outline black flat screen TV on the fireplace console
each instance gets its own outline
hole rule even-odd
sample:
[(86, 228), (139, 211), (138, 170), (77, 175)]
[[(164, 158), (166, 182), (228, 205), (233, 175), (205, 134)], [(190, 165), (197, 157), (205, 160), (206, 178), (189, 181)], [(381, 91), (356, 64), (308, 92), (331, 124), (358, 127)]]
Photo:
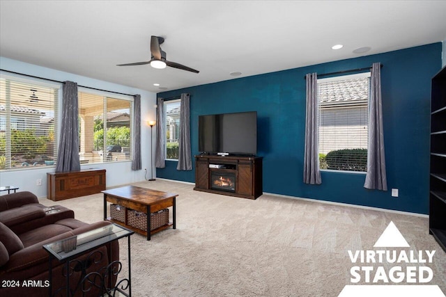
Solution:
[(257, 154), (257, 112), (199, 115), (198, 149), (203, 153)]

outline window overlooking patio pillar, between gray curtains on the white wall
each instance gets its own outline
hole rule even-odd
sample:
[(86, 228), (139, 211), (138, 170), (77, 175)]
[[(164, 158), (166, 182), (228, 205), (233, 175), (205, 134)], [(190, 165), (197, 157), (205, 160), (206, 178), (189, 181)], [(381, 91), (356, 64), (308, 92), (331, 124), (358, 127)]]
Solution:
[(79, 91), (81, 163), (132, 160), (132, 104), (130, 96)]

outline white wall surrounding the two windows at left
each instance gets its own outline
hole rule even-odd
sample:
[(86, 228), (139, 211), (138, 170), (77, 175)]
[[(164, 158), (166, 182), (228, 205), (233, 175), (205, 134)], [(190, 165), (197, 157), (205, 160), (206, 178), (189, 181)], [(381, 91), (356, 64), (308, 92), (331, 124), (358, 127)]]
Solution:
[[(40, 67), (20, 61), (3, 58), (0, 56), (0, 68), (2, 70), (9, 70), (22, 74), (29, 74), (35, 77), (42, 77), (45, 79), (53, 79), (56, 81), (75, 81), (78, 85), (88, 86), (91, 88), (98, 88), (102, 90), (109, 90), (112, 92), (125, 93), (130, 95), (141, 95), (141, 161), (142, 170), (133, 171), (131, 169), (132, 163), (130, 161), (100, 163), (100, 164), (86, 164), (81, 166), (82, 169), (101, 168), (107, 170), (107, 188), (112, 186), (119, 186), (121, 184), (129, 184), (132, 182), (144, 181), (144, 168), (150, 170), (151, 167), (151, 127), (146, 125), (148, 120), (155, 120), (155, 102), (156, 94), (146, 90), (131, 88), (128, 86), (121, 86), (116, 83), (109, 83), (107, 81), (100, 81), (91, 79), (89, 77), (82, 77), (77, 74), (62, 72), (46, 67)], [(7, 74), (5, 72), (5, 74)], [(59, 99), (60, 102), (62, 98)], [(59, 104), (62, 106), (62, 104)], [(61, 113), (59, 113), (61, 114)], [(60, 126), (60, 125), (59, 125)], [(60, 127), (59, 127), (60, 129)], [(153, 141), (155, 143), (155, 133), (153, 133)], [(155, 152), (153, 152), (155, 153)], [(153, 158), (155, 159), (155, 158)], [(24, 170), (9, 170), (0, 172), (0, 186), (19, 186), (19, 191), (31, 191), (39, 198), (47, 196), (47, 172), (54, 172), (52, 168), (36, 168)], [(155, 176), (155, 171), (153, 172)], [(150, 171), (148, 171), (148, 177)], [(36, 179), (42, 179), (42, 186), (36, 186)], [(0, 192), (4, 195), (7, 192)]]

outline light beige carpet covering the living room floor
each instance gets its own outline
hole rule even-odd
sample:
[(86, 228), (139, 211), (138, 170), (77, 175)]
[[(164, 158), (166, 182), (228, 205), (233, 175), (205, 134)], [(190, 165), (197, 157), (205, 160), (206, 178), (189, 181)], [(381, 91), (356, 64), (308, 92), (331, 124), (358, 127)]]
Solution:
[[(338, 296), (357, 265), (347, 251), (374, 250), (390, 221), (408, 241), (407, 250), (436, 250), (433, 263), (420, 265), (433, 271), (429, 284), (446, 292), (446, 254), (429, 235), (428, 218), (272, 195), (232, 198), (165, 180), (133, 185), (178, 198), (176, 230), (151, 241), (131, 237), (132, 296)], [(102, 220), (102, 199), (41, 202), (62, 204), (93, 223)], [(120, 246), (126, 275), (127, 240)]]

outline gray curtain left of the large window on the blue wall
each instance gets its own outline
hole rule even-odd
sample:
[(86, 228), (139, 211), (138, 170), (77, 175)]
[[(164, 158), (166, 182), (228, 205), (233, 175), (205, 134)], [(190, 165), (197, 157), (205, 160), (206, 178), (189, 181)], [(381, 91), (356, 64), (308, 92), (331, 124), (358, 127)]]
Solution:
[(318, 76), (307, 74), (307, 113), (305, 115), (305, 152), (304, 152), (304, 182), (305, 184), (321, 184), (319, 170), (318, 141)]

